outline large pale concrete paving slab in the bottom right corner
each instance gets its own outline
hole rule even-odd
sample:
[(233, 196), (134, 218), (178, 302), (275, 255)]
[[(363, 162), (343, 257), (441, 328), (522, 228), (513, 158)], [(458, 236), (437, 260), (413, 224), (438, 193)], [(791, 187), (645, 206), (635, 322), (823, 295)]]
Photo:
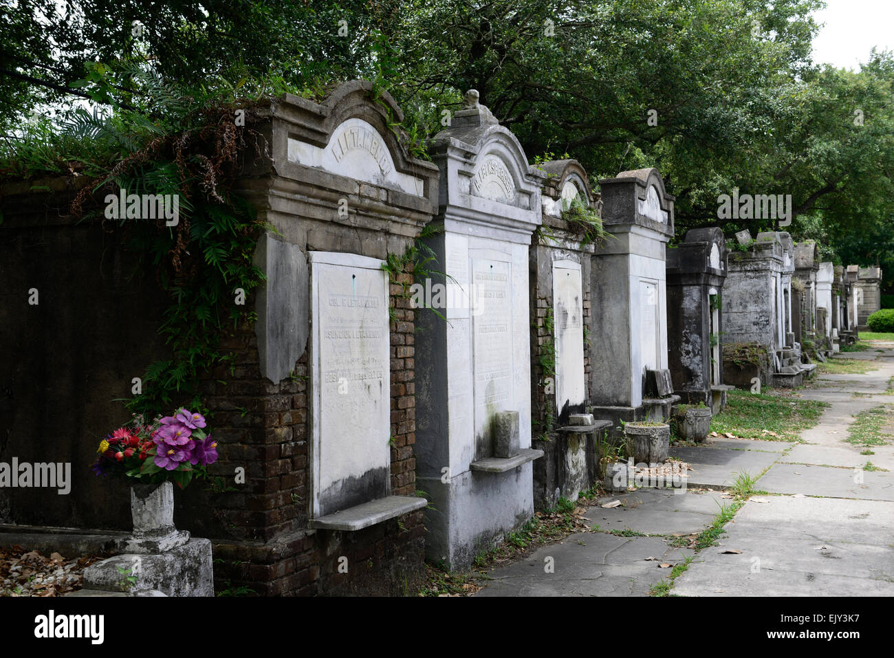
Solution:
[[(681, 596), (894, 595), (894, 503), (756, 496), (676, 579)], [(741, 553), (722, 553), (727, 550)]]

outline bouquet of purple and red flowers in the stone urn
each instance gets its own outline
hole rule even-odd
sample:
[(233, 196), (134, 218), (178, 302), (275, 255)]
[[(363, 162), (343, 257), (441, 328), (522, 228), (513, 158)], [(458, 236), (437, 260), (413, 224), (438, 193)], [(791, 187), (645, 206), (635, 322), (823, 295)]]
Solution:
[(93, 472), (97, 476), (133, 477), (140, 484), (172, 480), (182, 489), (193, 477), (207, 476), (217, 460), (217, 442), (208, 434), (205, 417), (187, 409), (146, 423), (135, 415), (99, 443)]

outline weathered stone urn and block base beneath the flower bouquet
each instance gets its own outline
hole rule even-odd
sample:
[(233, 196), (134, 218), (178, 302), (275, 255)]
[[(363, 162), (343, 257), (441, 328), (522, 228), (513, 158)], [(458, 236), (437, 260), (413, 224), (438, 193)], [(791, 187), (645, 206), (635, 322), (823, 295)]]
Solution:
[(173, 485), (131, 487), (133, 535), (123, 553), (84, 569), (84, 589), (131, 595), (214, 596), (211, 542), (173, 525)]

